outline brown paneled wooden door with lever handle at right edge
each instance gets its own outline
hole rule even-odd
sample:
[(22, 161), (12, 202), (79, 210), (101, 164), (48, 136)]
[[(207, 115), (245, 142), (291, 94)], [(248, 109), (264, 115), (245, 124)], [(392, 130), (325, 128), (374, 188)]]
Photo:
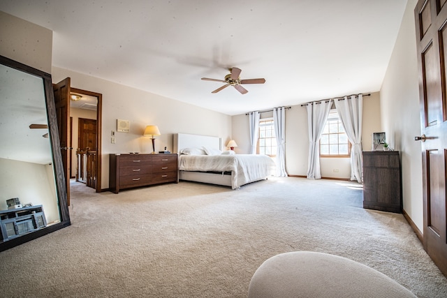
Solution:
[(423, 244), (447, 275), (447, 5), (420, 0), (415, 8), (423, 157)]

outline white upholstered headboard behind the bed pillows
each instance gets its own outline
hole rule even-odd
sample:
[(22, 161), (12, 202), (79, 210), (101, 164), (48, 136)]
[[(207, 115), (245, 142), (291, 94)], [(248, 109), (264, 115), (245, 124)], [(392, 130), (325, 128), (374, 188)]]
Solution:
[(221, 137), (210, 137), (208, 135), (189, 135), (187, 133), (174, 133), (174, 151), (179, 154), (179, 151), (184, 148), (200, 148), (207, 147), (211, 149), (222, 150)]

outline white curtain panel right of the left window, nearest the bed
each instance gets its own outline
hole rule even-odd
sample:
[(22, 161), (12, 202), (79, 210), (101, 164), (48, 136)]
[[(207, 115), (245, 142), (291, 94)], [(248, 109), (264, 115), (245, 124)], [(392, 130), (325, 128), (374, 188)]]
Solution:
[(286, 108), (273, 108), (274, 134), (277, 137), (277, 174), (287, 177), (286, 172)]

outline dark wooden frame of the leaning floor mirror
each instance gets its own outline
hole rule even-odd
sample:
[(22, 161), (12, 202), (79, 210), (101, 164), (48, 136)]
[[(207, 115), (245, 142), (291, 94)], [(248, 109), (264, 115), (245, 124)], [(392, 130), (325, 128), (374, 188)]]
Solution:
[(0, 243), (0, 251), (6, 251), (14, 246), (24, 244), (27, 241), (31, 241), (38, 237), (42, 237), (45, 234), (49, 234), (61, 228), (65, 228), (71, 225), (70, 214), (68, 212), (67, 203), (67, 189), (65, 184), (65, 174), (64, 165), (62, 162), (61, 149), (59, 141), (59, 128), (57, 126), (56, 117), (56, 105), (54, 104), (54, 93), (52, 87), (52, 79), (49, 73), (45, 73), (42, 70), (32, 68), (20, 62), (14, 61), (12, 59), (3, 57), (0, 55), (0, 64), (20, 70), (24, 73), (29, 73), (36, 77), (40, 77), (43, 81), (43, 89), (45, 93), (45, 107), (47, 109), (47, 119), (48, 119), (48, 133), (50, 134), (50, 146), (52, 150), (52, 161), (53, 161), (53, 171), (54, 171), (54, 185), (56, 186), (57, 195), (57, 205), (59, 207), (60, 223), (55, 223), (54, 225), (47, 226), (40, 230), (30, 232), (28, 234), (23, 234), (20, 237), (10, 239), (8, 241), (3, 241)]

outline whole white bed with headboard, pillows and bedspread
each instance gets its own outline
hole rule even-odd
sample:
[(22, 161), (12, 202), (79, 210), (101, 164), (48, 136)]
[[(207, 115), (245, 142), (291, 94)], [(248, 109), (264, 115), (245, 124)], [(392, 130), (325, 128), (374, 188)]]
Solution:
[(244, 184), (267, 179), (276, 165), (270, 156), (222, 151), (220, 137), (174, 134), (179, 154), (179, 179), (239, 189)]

